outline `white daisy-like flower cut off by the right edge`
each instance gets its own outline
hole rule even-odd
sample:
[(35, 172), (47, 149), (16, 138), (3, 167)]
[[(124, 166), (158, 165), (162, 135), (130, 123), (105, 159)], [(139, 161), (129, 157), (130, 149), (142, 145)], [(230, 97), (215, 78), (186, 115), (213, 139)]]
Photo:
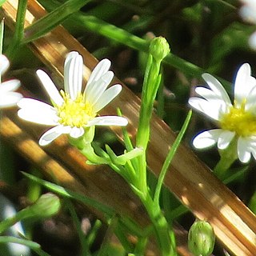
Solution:
[(210, 89), (197, 87), (202, 98), (190, 98), (190, 106), (212, 118), (219, 128), (198, 134), (194, 147), (204, 149), (217, 143), (224, 150), (236, 139), (239, 160), (249, 162), (251, 154), (256, 159), (256, 79), (250, 75), (250, 65), (245, 63), (238, 70), (233, 104), (216, 78), (210, 74), (202, 74), (202, 78)]

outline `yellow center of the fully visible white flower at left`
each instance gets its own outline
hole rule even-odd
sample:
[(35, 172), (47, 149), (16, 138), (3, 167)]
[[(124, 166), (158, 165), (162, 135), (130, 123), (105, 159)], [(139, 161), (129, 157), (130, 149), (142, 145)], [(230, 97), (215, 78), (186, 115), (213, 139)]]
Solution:
[(88, 121), (96, 116), (93, 107), (88, 102), (84, 102), (82, 94), (78, 94), (75, 100), (63, 90), (60, 92), (64, 102), (62, 106), (55, 106), (58, 110), (58, 120), (64, 126), (82, 127), (86, 126)]

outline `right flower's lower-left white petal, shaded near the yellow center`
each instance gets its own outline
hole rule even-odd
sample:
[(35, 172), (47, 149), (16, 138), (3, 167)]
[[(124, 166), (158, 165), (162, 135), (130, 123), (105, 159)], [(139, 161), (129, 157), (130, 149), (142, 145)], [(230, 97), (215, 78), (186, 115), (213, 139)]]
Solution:
[(218, 141), (218, 137), (222, 134), (222, 129), (206, 130), (198, 134), (193, 140), (193, 146), (197, 149), (205, 149)]

